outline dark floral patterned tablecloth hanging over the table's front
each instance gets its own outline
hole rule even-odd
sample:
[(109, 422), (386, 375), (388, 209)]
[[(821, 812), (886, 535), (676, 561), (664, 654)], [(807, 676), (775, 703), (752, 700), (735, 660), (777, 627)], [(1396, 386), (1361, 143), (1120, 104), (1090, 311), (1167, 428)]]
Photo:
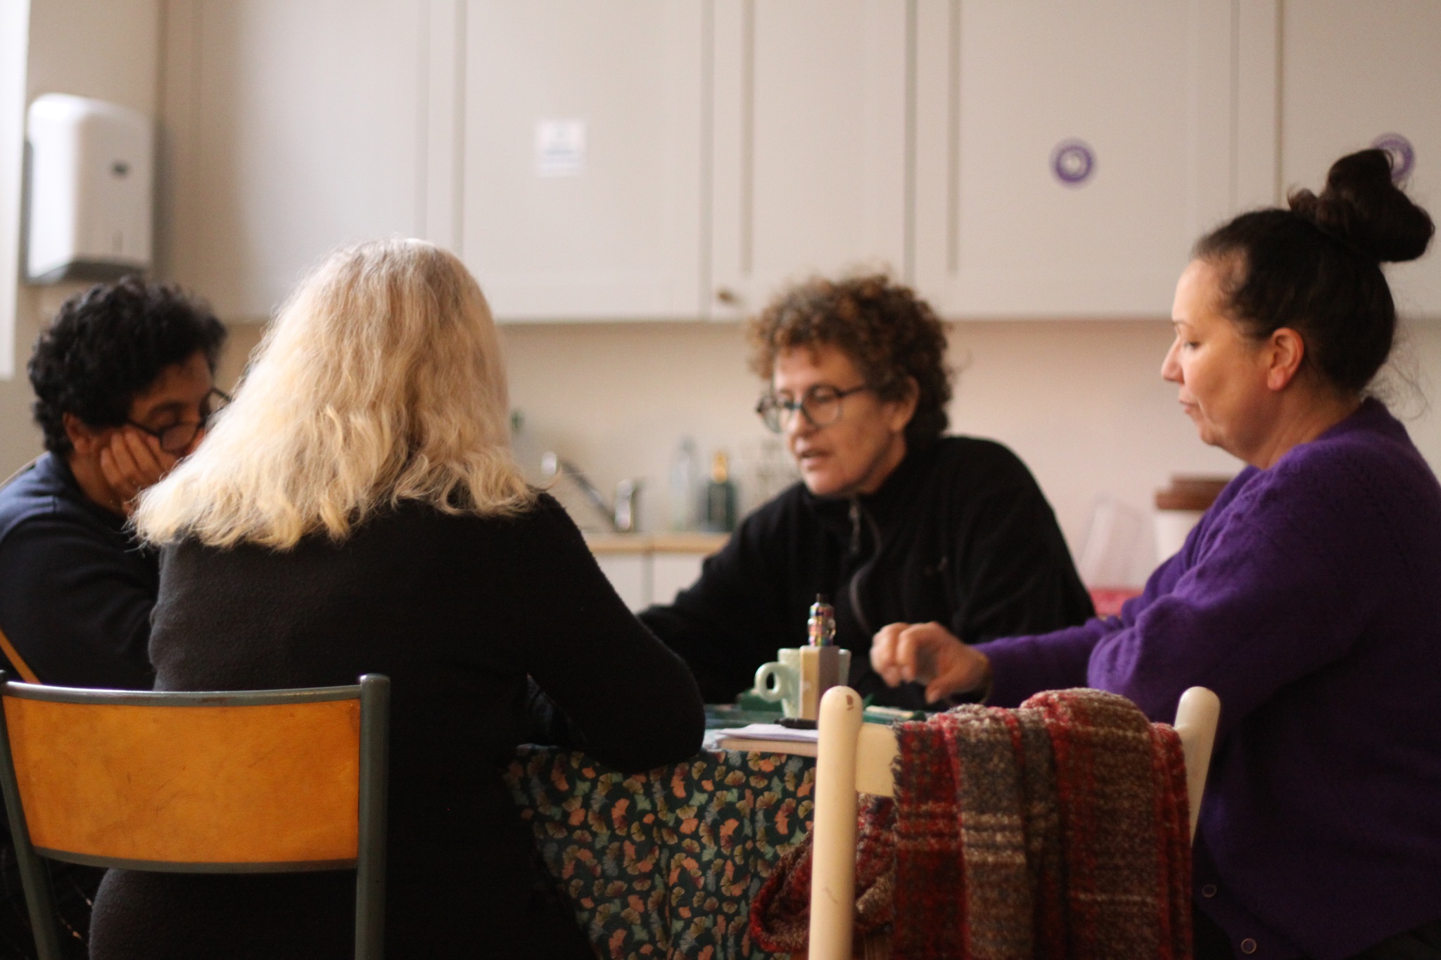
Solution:
[(540, 858), (602, 957), (771, 957), (751, 898), (804, 838), (816, 761), (700, 753), (638, 776), (584, 753), (522, 747), (506, 783)]

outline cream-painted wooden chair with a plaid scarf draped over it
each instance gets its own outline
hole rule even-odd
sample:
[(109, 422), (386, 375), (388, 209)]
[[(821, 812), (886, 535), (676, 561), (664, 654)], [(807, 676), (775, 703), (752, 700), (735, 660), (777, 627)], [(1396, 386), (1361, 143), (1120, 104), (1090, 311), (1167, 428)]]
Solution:
[[(1221, 701), (1205, 687), (1182, 694), (1176, 733), (1186, 754), (1190, 835), (1206, 789)], [(860, 694), (831, 687), (820, 704), (816, 812), (811, 828), (810, 960), (850, 960), (856, 907), (856, 793), (893, 796), (891, 764), (899, 753), (889, 727), (862, 723)]]

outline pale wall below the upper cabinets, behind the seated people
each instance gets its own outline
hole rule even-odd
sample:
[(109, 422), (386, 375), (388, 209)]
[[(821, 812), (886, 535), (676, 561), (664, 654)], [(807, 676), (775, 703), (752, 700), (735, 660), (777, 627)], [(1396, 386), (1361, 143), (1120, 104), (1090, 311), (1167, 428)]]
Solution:
[[(529, 433), (520, 449), (530, 458), (555, 449), (602, 489), (640, 476), (647, 530), (664, 524), (680, 436), (695, 436), (702, 453), (744, 452), (767, 436), (751, 412), (761, 384), (745, 368), (738, 324), (535, 325), (503, 335), (512, 406), (525, 413)], [(1026, 461), (1072, 553), (1098, 498), (1148, 515), (1172, 474), (1239, 469), (1196, 439), (1174, 387), (1160, 379), (1170, 344), (1163, 321), (965, 322), (953, 325), (950, 338), (951, 361), (961, 367), (953, 430), (996, 438)], [(1427, 403), (1437, 396), (1441, 324), (1409, 327), (1398, 360), (1417, 387), (1393, 376), (1383, 386), (1432, 468), (1441, 468), (1441, 417)], [(1148, 571), (1146, 560), (1134, 580)]]

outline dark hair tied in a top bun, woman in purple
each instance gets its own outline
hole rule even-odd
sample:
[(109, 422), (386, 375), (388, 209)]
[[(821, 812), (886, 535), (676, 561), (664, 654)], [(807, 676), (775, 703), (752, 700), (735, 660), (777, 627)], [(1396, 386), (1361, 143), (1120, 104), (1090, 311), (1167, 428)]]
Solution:
[(1242, 213), (1203, 236), (1197, 259), (1222, 268), (1225, 312), (1254, 340), (1301, 334), (1301, 360), (1331, 387), (1366, 389), (1391, 354), (1396, 307), (1380, 265), (1414, 261), (1435, 232), (1392, 181), (1382, 150), (1331, 164), (1320, 196)]

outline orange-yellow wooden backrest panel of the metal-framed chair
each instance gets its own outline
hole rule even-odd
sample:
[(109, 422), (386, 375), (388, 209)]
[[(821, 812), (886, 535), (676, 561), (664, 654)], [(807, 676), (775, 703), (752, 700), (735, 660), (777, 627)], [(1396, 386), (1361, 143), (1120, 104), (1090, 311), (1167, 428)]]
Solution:
[(147, 707), (4, 698), (30, 843), (140, 869), (353, 866), (360, 701)]

